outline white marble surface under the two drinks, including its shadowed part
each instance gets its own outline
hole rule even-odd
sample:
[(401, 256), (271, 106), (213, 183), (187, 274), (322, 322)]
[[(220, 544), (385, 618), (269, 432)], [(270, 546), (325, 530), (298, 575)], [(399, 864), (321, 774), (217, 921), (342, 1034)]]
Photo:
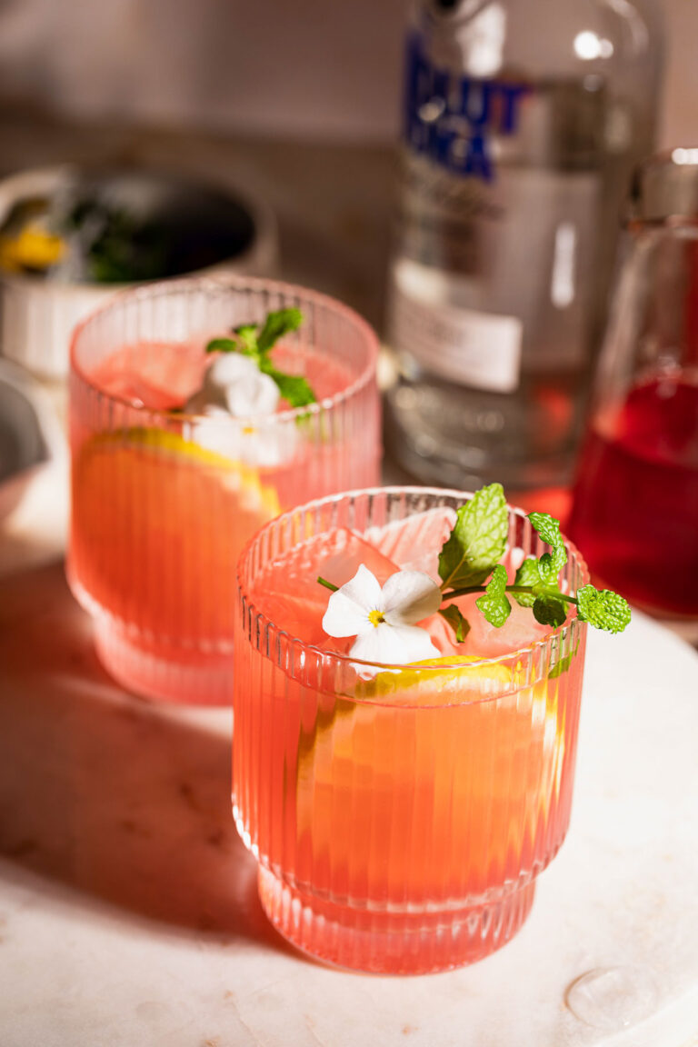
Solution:
[[(690, 1047), (698, 1043), (698, 656), (636, 616), (588, 653), (572, 826), (501, 952), (343, 974), (268, 926), (229, 809), (230, 717), (106, 676), (60, 557), (64, 478), (0, 531), (2, 1047)], [(9, 551), (12, 550), (12, 556)], [(651, 1016), (565, 1004), (635, 968)]]

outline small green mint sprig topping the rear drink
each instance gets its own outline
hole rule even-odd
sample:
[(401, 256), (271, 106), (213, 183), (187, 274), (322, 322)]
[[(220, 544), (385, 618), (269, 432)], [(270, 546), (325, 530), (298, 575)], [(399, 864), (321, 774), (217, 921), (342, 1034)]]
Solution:
[(241, 324), (233, 328), (231, 338), (212, 338), (207, 353), (242, 353), (254, 360), (260, 371), (269, 375), (283, 400), (291, 407), (307, 407), (317, 403), (312, 386), (302, 375), (287, 375), (274, 366), (269, 357), (279, 338), (297, 331), (302, 324), (299, 309), (278, 309), (268, 313), (264, 324)]

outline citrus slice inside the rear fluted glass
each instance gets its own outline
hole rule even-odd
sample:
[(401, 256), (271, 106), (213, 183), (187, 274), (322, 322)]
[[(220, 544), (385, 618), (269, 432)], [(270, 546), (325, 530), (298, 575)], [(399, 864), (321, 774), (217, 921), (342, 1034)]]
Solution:
[(73, 454), (71, 571), (141, 629), (229, 641), (238, 557), (278, 512), (255, 468), (177, 432), (97, 433)]

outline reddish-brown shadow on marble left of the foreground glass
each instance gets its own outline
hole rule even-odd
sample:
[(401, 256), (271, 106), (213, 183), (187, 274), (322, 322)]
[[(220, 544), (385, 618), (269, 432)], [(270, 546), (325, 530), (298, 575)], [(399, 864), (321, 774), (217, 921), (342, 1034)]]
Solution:
[(85, 901), (290, 950), (232, 822), (230, 728), (126, 694), (62, 562), (0, 580), (0, 854)]

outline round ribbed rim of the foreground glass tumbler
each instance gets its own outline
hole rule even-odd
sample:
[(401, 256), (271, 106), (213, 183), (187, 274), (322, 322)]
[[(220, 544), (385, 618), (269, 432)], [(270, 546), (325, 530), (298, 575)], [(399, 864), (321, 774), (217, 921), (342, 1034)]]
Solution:
[[(416, 494), (422, 496), (432, 495), (437, 497), (447, 496), (447, 497), (459, 498), (460, 502), (464, 503), (469, 498), (471, 498), (474, 492), (459, 491), (456, 488), (421, 487), (420, 485), (392, 484), (386, 487), (364, 487), (364, 488), (356, 488), (351, 491), (341, 491), (338, 494), (325, 495), (322, 498), (316, 498), (313, 499), (312, 502), (307, 502), (303, 505), (295, 506), (292, 509), (288, 509), (285, 512), (279, 513), (278, 516), (275, 516), (274, 519), (268, 520), (262, 528), (260, 528), (258, 531), (256, 531), (252, 535), (252, 537), (246, 542), (245, 547), (243, 548), (235, 567), (235, 582), (237, 582), (239, 597), (242, 596), (242, 598), (247, 603), (247, 606), (250, 609), (253, 609), (254, 615), (257, 618), (263, 619), (263, 621), (266, 624), (270, 625), (275, 630), (277, 636), (286, 637), (286, 639), (289, 642), (298, 645), (300, 648), (302, 648), (302, 650), (313, 651), (315, 654), (319, 654), (323, 659), (328, 660), (331, 659), (337, 664), (343, 664), (347, 666), (350, 665), (366, 666), (366, 668), (377, 669), (378, 672), (386, 671), (395, 673), (396, 671), (404, 671), (405, 669), (410, 669), (410, 670), (418, 670), (420, 673), (427, 674), (434, 672), (444, 672), (451, 669), (457, 669), (467, 674), (470, 668), (475, 669), (483, 665), (501, 665), (504, 662), (515, 661), (515, 660), (520, 661), (523, 658), (527, 658), (531, 661), (533, 661), (536, 654), (544, 650), (546, 647), (549, 647), (554, 640), (558, 641), (559, 645), (561, 645), (562, 642), (567, 638), (567, 636), (568, 634), (571, 636), (571, 633), (576, 630), (580, 631), (580, 639), (585, 634), (586, 622), (580, 621), (577, 618), (577, 616), (575, 616), (573, 618), (568, 618), (562, 625), (558, 625), (555, 629), (546, 633), (544, 637), (541, 637), (539, 640), (534, 640), (528, 644), (524, 644), (521, 647), (517, 647), (514, 650), (506, 651), (505, 653), (491, 655), (489, 658), (477, 658), (477, 661), (474, 661), (472, 663), (467, 663), (467, 662), (447, 663), (443, 661), (438, 663), (436, 663), (436, 661), (430, 663), (428, 660), (424, 660), (423, 662), (411, 662), (411, 663), (400, 663), (400, 664), (390, 662), (366, 662), (363, 661), (362, 659), (353, 656), (352, 654), (342, 654), (339, 651), (328, 650), (324, 647), (319, 647), (317, 644), (310, 644), (299, 639), (298, 637), (294, 637), (292, 633), (287, 632), (285, 629), (279, 628), (275, 622), (269, 619), (264, 614), (264, 611), (257, 609), (255, 605), (252, 603), (252, 601), (249, 600), (245, 592), (245, 588), (243, 586), (241, 577), (243, 564), (247, 561), (254, 543), (261, 538), (263, 534), (268, 532), (271, 528), (278, 526), (283, 520), (292, 517), (294, 514), (303, 513), (311, 508), (317, 509), (322, 506), (328, 506), (332, 505), (333, 503), (340, 502), (344, 498), (355, 497), (357, 495), (373, 496), (381, 494), (385, 495)], [(510, 514), (510, 517), (514, 515), (522, 520), (527, 518), (527, 514), (524, 512), (523, 509), (520, 509), (519, 507), (514, 506), (509, 502), (506, 503), (506, 509)], [(580, 553), (579, 549), (577, 548), (577, 545), (566, 535), (563, 534), (562, 537), (564, 538), (565, 548), (567, 549), (567, 552), (570, 556), (570, 560), (572, 560), (579, 566), (582, 573), (583, 583), (585, 584), (589, 580), (589, 569), (587, 566), (587, 563), (582, 554)], [(489, 700), (492, 697), (493, 697), (492, 695), (483, 695), (482, 699), (477, 699), (477, 700)], [(437, 707), (434, 706), (433, 708)]]

